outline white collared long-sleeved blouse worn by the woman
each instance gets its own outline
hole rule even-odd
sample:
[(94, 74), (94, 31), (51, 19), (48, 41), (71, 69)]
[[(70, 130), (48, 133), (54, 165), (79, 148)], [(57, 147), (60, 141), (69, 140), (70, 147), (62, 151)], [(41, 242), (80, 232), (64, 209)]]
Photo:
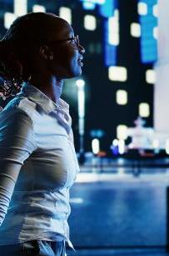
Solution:
[(30, 83), (0, 113), (0, 245), (69, 239), (79, 166), (69, 106)]

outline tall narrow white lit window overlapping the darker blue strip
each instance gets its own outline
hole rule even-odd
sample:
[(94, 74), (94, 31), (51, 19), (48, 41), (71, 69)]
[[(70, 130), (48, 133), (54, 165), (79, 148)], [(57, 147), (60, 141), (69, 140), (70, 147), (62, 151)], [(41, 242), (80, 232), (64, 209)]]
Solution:
[(119, 44), (119, 11), (114, 11), (114, 16), (108, 18), (108, 43), (117, 46)]

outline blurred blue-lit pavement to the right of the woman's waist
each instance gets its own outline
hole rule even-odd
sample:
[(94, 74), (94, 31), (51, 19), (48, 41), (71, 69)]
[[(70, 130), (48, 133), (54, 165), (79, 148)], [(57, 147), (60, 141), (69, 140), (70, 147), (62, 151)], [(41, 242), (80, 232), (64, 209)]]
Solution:
[(167, 186), (169, 173), (146, 170), (138, 177), (79, 173), (70, 190), (72, 255), (169, 255)]

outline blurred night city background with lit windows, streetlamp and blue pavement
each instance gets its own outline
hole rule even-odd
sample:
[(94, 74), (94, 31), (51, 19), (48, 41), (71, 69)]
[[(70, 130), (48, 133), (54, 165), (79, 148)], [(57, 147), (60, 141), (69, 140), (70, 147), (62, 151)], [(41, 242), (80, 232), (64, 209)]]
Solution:
[(0, 37), (30, 12), (65, 18), (86, 48), (62, 93), (81, 168), (68, 255), (167, 255), (169, 3), (0, 0)]

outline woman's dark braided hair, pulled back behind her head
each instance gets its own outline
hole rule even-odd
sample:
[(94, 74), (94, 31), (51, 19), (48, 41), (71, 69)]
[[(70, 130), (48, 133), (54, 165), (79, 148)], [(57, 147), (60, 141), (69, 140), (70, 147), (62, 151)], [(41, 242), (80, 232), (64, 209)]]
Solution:
[[(17, 18), (0, 41), (0, 98), (15, 96), (32, 73), (32, 63), (42, 43), (47, 43), (52, 13), (27, 13)], [(49, 27), (50, 25), (50, 27)]]

